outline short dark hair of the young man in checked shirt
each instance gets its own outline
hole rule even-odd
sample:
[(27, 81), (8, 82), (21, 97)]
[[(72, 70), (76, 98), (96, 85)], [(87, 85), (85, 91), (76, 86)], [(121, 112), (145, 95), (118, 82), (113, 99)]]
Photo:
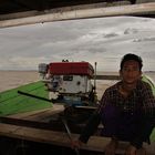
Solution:
[(125, 54), (125, 55), (122, 58), (122, 61), (121, 61), (121, 71), (122, 71), (122, 69), (123, 69), (124, 63), (125, 63), (126, 61), (130, 61), (130, 60), (134, 60), (134, 61), (138, 62), (140, 71), (142, 70), (142, 66), (143, 66), (142, 58), (138, 56), (138, 55), (128, 53), (128, 54)]

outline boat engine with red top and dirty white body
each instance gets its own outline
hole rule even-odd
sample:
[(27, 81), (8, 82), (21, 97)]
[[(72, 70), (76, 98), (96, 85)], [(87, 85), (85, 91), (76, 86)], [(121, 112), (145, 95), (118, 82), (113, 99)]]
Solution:
[(39, 73), (55, 102), (79, 105), (95, 102), (94, 69), (89, 62), (41, 63)]

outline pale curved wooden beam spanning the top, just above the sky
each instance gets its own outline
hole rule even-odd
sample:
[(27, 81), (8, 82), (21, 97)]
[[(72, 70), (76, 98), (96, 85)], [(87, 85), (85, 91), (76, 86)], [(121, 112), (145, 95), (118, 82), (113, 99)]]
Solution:
[(107, 7), (107, 8), (91, 8), (91, 9), (83, 9), (83, 10), (73, 10), (73, 8), (70, 7), (70, 10), (68, 11), (64, 8), (54, 9), (41, 16), (12, 19), (12, 20), (2, 20), (0, 21), (0, 28), (53, 22), (53, 21), (61, 21), (61, 20), (84, 19), (84, 18), (103, 18), (103, 17), (114, 17), (114, 16), (142, 16), (142, 14), (143, 16), (155, 14), (155, 2), (132, 4), (132, 6)]

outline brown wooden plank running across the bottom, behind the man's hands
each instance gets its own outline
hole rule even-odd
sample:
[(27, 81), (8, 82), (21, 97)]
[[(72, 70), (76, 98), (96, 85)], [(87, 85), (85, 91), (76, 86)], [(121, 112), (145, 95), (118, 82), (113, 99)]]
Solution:
[[(18, 125), (9, 125), (3, 123), (0, 123), (0, 135), (65, 147), (70, 147), (71, 144), (66, 133), (31, 127), (21, 127)], [(78, 140), (79, 135), (72, 134), (72, 137), (73, 140)], [(91, 136), (89, 143), (81, 146), (81, 149), (103, 153), (108, 142), (110, 138)], [(124, 154), (127, 145), (127, 143), (121, 142), (116, 153)], [(155, 143), (152, 144), (152, 147), (147, 146), (147, 155), (155, 155)]]

